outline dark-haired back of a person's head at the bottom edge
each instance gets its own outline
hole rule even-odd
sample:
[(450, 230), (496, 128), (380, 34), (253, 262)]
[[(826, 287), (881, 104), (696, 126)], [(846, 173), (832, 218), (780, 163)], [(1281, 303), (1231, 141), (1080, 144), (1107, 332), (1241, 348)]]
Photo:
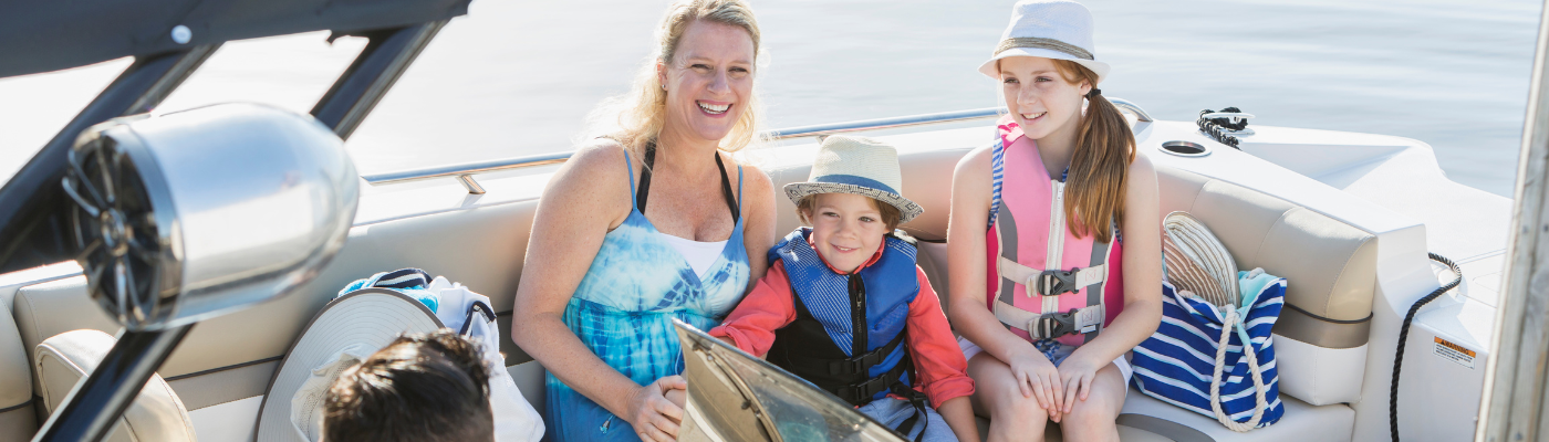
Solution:
[(479, 345), (407, 334), (345, 369), (324, 402), (324, 440), (494, 440)]

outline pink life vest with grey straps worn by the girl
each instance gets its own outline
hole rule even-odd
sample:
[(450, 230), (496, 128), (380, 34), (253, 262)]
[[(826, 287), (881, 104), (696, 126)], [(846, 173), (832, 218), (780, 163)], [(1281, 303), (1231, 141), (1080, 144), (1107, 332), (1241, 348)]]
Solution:
[[(1001, 117), (998, 127), (985, 304), (1022, 338), (1081, 345), (1123, 309), (1121, 241), (1070, 233), (1064, 182), (1049, 176), (1038, 145), (1022, 136), (1011, 116)], [(1063, 325), (1053, 320), (1058, 317)]]

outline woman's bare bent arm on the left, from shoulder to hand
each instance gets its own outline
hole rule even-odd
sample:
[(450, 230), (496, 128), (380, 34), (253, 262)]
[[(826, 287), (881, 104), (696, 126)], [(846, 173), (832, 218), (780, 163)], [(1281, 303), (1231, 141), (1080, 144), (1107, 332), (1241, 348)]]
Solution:
[[(624, 151), (607, 139), (581, 147), (548, 181), (516, 291), (511, 340), (565, 385), (644, 431), (638, 427), (646, 420), (637, 420), (634, 416), (641, 414), (637, 411), (658, 410), (646, 413), (658, 417), (682, 414), (674, 416), (675, 406), (665, 399), (654, 400), (661, 397), (651, 394), (655, 385), (641, 386), (598, 359), (561, 320), (603, 247), (603, 236), (629, 216), (634, 206), (627, 189)], [(671, 422), (655, 427), (677, 431)]]

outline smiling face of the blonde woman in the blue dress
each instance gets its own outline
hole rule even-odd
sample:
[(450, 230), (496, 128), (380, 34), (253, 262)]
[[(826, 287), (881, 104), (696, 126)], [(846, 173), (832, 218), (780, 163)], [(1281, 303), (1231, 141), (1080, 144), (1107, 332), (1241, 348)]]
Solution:
[(719, 142), (753, 96), (753, 37), (731, 25), (689, 23), (677, 54), (657, 73), (668, 90), (665, 130)]

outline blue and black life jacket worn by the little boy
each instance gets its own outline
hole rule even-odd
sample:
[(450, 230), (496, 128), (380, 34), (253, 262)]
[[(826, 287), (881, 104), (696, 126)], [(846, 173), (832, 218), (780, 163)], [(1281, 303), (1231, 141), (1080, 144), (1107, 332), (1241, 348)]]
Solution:
[(774, 332), (768, 362), (850, 405), (888, 393), (915, 399), (905, 345), (909, 303), (920, 294), (914, 241), (888, 235), (877, 263), (840, 275), (807, 243), (810, 235), (796, 229), (770, 249), (770, 263), (784, 263), (790, 278), (796, 320)]

